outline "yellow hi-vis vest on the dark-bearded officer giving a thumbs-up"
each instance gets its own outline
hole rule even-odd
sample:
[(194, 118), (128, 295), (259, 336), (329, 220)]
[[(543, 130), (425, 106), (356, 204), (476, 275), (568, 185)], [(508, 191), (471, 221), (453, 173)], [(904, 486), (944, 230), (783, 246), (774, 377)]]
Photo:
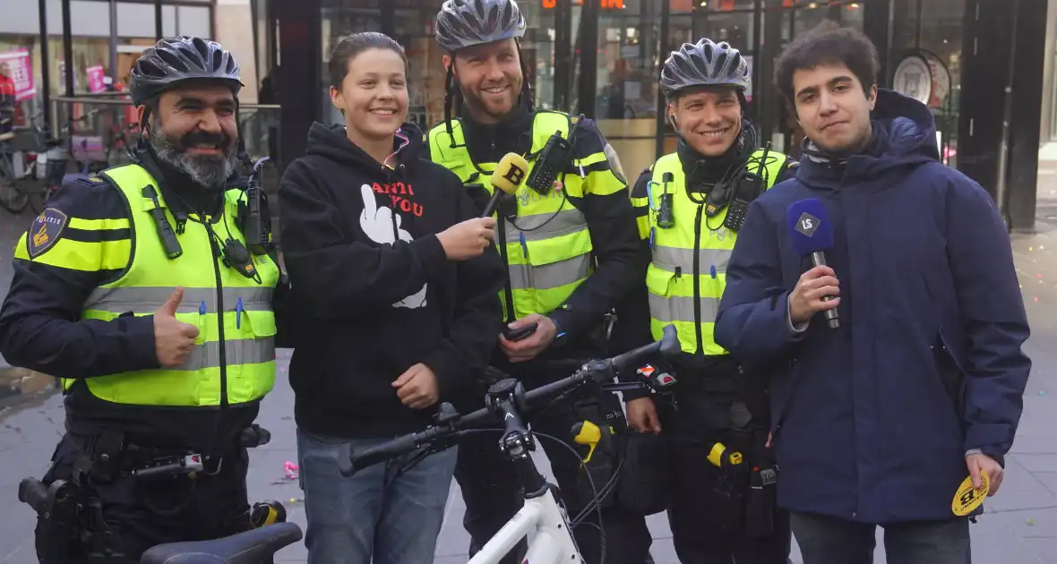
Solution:
[[(81, 317), (109, 321), (128, 312), (150, 315), (179, 285), (185, 292), (175, 317), (197, 326), (199, 336), (180, 368), (85, 378), (88, 391), (106, 401), (136, 406), (209, 407), (225, 400), (234, 406), (263, 397), (275, 384), (272, 294), (278, 266), (267, 257), (254, 257), (260, 282), (240, 275), (214, 257), (206, 227), (193, 220), (178, 236), (183, 255), (169, 260), (151, 215), (155, 205), (143, 194), (145, 186), (157, 186), (154, 178), (138, 165), (101, 174), (119, 188), (131, 212), (132, 255), (119, 279), (92, 290)], [(161, 190), (155, 193), (165, 208)], [(228, 190), (223, 217), (206, 218), (215, 221), (210, 225), (221, 245), (228, 238), (245, 243), (236, 225), (241, 194)], [(63, 379), (62, 389), (75, 381)]]

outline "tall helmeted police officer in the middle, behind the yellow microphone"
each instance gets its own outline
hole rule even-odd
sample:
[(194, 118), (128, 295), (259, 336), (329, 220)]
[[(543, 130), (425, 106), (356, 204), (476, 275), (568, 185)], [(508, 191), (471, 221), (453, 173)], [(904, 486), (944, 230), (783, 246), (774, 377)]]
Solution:
[[(499, 296), (508, 328), (493, 364), (532, 389), (605, 354), (607, 313), (641, 280), (645, 265), (616, 154), (591, 119), (535, 108), (519, 46), (524, 32), (513, 0), (444, 2), (437, 40), (446, 51), (445, 120), (426, 137), (430, 158), (458, 174), (482, 210), (494, 190), (489, 175), (502, 157), (517, 153), (527, 162), (523, 177), (509, 176), (517, 191), (500, 200), (496, 213), (497, 246), (509, 274)], [(573, 445), (578, 420), (622, 432), (617, 396), (552, 406), (533, 425)], [(498, 438), (468, 435), (459, 447), (456, 477), (471, 553), (524, 502)], [(585, 465), (560, 445), (540, 444), (573, 518), (593, 501), (586, 472), (601, 488), (615, 469), (617, 449), (595, 452)], [(605, 496), (601, 505), (606, 561), (647, 562), (645, 519), (622, 510), (615, 497)], [(601, 564), (599, 530), (590, 524), (597, 525), (596, 515), (592, 511), (574, 531), (588, 564)], [(524, 543), (504, 562), (521, 562), (523, 551)]]

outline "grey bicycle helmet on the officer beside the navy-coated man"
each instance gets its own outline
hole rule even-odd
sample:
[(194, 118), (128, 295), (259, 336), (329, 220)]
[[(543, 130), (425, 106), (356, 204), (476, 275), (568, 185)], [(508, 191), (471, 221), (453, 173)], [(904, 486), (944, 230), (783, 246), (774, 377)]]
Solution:
[(741, 53), (726, 41), (709, 39), (683, 43), (661, 70), (661, 90), (669, 97), (689, 87), (730, 86), (745, 92), (748, 80), (748, 62)]

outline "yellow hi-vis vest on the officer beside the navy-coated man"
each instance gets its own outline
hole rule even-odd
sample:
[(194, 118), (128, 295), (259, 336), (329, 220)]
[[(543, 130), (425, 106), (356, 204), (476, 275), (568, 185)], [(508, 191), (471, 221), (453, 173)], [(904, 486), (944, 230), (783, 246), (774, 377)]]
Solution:
[[(764, 150), (755, 151), (748, 158), (747, 170), (763, 176), (765, 189), (771, 189), (785, 165), (785, 155)], [(660, 206), (664, 174), (671, 173), (668, 193), (672, 194), (674, 225), (662, 228), (657, 214), (642, 218), (639, 234), (651, 238), (652, 260), (646, 271), (649, 289), (650, 332), (661, 340), (664, 327), (674, 324), (679, 331), (682, 350), (687, 354), (723, 355), (716, 344), (712, 330), (719, 313), (720, 298), (726, 288), (727, 262), (734, 250), (737, 234), (723, 227), (727, 208), (709, 218), (704, 205), (690, 200), (686, 191), (686, 175), (678, 153), (662, 156), (653, 165), (650, 202), (652, 209)], [(700, 222), (700, 229), (697, 228)], [(644, 231), (645, 229), (645, 231)], [(697, 234), (700, 233), (700, 237)], [(697, 262), (694, 262), (697, 258)]]

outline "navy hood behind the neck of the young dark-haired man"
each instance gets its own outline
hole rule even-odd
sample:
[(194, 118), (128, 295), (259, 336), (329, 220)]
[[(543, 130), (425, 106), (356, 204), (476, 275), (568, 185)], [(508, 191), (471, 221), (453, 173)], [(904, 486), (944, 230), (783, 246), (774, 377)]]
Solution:
[(828, 155), (804, 138), (797, 178), (806, 185), (840, 188), (891, 174), (905, 174), (917, 165), (940, 159), (935, 119), (924, 104), (897, 92), (877, 89), (870, 113), (873, 134), (859, 153)]

